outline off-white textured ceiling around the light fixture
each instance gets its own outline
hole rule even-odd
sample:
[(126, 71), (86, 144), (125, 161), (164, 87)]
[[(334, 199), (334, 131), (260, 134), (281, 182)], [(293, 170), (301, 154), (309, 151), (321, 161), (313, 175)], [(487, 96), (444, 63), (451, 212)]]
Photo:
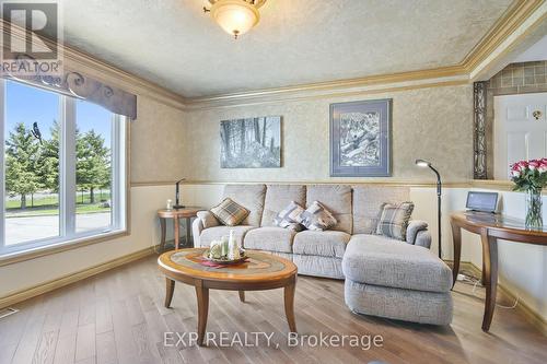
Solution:
[(234, 40), (206, 0), (62, 0), (65, 42), (186, 97), (453, 66), (511, 0), (268, 0)]

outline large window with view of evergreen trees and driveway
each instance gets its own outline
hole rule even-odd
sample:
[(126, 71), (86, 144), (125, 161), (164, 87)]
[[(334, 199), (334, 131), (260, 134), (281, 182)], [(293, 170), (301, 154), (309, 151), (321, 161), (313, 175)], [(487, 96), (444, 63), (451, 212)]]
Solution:
[(124, 231), (126, 118), (0, 81), (0, 255)]

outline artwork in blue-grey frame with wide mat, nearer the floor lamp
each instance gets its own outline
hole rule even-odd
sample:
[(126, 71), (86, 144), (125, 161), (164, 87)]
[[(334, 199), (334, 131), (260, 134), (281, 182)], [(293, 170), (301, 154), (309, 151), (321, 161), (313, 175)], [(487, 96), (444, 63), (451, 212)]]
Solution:
[(330, 104), (330, 176), (391, 176), (391, 98)]

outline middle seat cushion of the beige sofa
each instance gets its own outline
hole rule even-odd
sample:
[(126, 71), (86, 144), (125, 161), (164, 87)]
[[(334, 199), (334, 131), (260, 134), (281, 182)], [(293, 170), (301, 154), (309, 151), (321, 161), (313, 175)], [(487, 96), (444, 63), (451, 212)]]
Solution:
[(249, 231), (245, 235), (245, 249), (292, 253), (292, 240), (296, 232), (289, 228), (265, 226)]

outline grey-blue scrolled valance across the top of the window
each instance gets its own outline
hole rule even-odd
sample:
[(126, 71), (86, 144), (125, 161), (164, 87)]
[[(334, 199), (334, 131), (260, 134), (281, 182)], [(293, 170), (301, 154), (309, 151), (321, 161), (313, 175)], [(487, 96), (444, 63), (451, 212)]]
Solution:
[(77, 71), (66, 70), (61, 77), (40, 74), (15, 77), (4, 73), (3, 78), (83, 98), (101, 105), (115, 114), (124, 115), (131, 119), (137, 118), (137, 95), (104, 84)]

